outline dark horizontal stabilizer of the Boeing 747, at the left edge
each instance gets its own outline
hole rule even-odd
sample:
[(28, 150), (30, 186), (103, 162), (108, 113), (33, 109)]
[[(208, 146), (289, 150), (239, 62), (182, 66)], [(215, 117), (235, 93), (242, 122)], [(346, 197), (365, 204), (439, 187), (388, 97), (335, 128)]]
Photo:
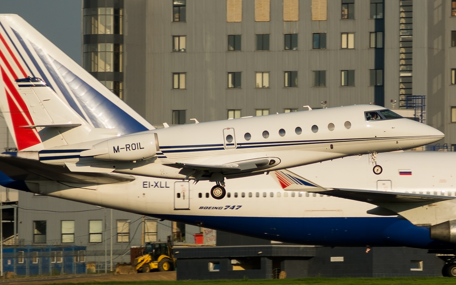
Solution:
[(0, 171), (15, 180), (51, 180), (75, 184), (113, 184), (134, 181), (135, 177), (109, 173), (72, 172), (66, 167), (0, 154)]

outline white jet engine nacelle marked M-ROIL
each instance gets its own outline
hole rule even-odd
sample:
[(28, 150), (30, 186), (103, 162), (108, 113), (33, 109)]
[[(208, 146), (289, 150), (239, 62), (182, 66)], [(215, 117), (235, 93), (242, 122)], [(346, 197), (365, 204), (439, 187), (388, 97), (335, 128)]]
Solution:
[(107, 149), (107, 153), (93, 156), (109, 161), (140, 161), (155, 156), (159, 150), (158, 136), (155, 133), (125, 135), (93, 145), (96, 149)]

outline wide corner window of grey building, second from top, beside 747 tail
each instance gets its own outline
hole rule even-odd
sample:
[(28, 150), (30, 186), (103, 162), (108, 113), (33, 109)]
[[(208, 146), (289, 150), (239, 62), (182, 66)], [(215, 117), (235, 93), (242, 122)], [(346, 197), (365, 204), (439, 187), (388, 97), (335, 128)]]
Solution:
[(88, 72), (122, 72), (123, 45), (119, 43), (84, 44), (84, 69)]

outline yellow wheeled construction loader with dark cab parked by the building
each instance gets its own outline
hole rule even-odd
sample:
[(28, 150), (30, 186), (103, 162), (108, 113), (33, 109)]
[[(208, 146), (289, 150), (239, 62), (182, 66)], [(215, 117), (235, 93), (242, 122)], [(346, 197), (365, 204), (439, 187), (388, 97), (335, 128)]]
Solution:
[(146, 243), (144, 254), (135, 258), (133, 267), (138, 273), (148, 273), (151, 270), (172, 271), (176, 268), (171, 237), (164, 242)]

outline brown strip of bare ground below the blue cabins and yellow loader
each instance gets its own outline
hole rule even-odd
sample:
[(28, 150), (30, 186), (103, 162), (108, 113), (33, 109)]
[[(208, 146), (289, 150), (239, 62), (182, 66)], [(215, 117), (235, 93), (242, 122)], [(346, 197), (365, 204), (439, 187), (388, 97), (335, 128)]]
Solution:
[(83, 283), (83, 282), (113, 282), (113, 281), (149, 281), (149, 280), (176, 280), (176, 271), (171, 272), (150, 272), (129, 275), (71, 275), (52, 277), (17, 278), (3, 280), (1, 285), (38, 285), (56, 283)]

